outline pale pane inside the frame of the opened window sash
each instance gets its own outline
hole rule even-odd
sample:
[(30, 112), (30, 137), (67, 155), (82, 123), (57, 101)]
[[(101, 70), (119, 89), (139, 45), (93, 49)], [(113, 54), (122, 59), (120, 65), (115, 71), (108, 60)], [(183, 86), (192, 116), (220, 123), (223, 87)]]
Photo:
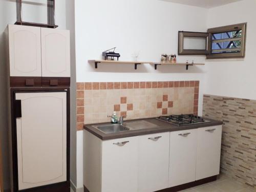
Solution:
[(205, 37), (184, 37), (183, 49), (205, 50), (206, 38)]

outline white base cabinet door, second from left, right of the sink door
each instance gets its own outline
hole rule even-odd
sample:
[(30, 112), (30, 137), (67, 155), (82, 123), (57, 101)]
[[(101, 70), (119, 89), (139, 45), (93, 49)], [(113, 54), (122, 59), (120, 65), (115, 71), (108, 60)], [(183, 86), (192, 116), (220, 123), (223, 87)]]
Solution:
[(138, 191), (168, 188), (169, 132), (139, 137)]

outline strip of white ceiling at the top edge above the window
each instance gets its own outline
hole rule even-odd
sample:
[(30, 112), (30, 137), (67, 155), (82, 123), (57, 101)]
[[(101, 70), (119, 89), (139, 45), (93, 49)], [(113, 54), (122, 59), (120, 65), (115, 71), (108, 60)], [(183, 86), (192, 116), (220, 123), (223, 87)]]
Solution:
[(233, 2), (239, 2), (242, 0), (164, 0), (164, 1), (184, 4), (184, 5), (192, 5), (197, 7), (212, 8), (212, 7), (218, 7), (218, 6), (233, 3)]

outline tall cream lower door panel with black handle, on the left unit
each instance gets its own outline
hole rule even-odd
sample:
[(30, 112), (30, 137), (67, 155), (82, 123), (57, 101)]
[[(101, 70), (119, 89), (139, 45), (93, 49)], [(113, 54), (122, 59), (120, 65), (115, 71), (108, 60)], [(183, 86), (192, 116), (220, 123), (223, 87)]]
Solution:
[[(16, 93), (18, 189), (67, 180), (67, 93)], [(21, 117), (20, 117), (21, 116)]]

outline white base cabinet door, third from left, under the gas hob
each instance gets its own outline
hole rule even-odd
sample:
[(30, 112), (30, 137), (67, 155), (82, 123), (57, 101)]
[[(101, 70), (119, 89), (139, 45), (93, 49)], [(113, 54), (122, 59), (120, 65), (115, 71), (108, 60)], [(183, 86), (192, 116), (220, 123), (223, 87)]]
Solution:
[(170, 132), (169, 187), (196, 180), (197, 130)]

